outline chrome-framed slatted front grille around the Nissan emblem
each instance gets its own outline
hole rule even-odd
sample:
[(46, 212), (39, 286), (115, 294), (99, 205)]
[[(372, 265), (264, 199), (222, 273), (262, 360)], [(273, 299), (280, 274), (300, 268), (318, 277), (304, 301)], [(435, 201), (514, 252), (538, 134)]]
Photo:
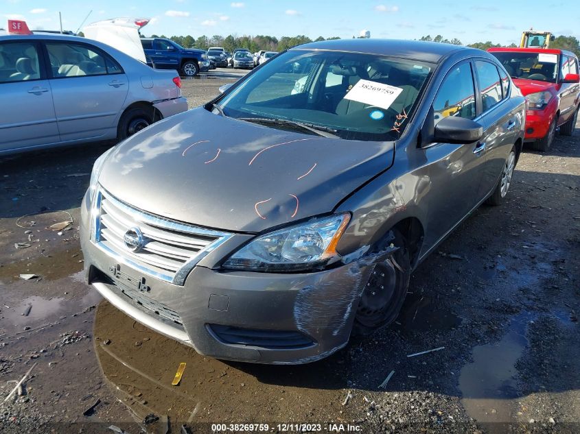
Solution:
[[(198, 228), (157, 217), (117, 200), (104, 190), (97, 193), (95, 242), (121, 262), (175, 285), (183, 285), (200, 259), (231, 234)], [(126, 245), (129, 230), (141, 232), (141, 245)]]

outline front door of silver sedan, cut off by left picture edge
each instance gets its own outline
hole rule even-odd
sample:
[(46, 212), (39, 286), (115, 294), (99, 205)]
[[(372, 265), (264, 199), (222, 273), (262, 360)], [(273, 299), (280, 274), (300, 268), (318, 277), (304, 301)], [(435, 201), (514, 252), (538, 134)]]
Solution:
[(38, 42), (0, 42), (0, 152), (58, 143), (50, 83)]

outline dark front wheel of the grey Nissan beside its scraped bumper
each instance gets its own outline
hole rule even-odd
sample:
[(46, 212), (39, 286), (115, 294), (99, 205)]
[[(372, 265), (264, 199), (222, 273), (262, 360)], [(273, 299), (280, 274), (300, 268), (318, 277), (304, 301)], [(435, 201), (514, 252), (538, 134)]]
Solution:
[(353, 335), (369, 335), (391, 324), (399, 315), (410, 277), (407, 241), (396, 229), (391, 241), (398, 249), (391, 258), (375, 265), (362, 291), (353, 324)]

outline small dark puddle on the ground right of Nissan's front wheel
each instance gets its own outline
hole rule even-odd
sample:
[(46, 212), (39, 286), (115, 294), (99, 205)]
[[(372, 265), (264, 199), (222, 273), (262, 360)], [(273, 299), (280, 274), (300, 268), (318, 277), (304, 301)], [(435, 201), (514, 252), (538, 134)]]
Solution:
[(461, 324), (461, 318), (450, 311), (437, 309), (428, 296), (408, 294), (397, 318), (405, 334), (452, 330)]

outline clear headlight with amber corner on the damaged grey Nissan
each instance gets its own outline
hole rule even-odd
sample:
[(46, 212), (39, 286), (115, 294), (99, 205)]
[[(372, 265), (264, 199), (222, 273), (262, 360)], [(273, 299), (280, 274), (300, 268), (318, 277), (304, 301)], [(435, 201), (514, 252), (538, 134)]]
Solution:
[(338, 258), (336, 245), (350, 215), (314, 219), (269, 234), (244, 245), (222, 265), (254, 272), (295, 272), (312, 269)]

